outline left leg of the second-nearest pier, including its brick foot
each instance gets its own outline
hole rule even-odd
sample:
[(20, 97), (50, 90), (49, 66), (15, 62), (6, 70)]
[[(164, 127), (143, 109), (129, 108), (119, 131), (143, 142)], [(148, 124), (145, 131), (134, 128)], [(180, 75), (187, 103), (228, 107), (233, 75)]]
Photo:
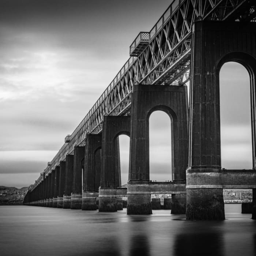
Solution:
[[(140, 108), (139, 86), (133, 86), (132, 120), (129, 181), (127, 184), (127, 214), (152, 214), (150, 193), (134, 193), (140, 184), (149, 182), (149, 136), (147, 120), (143, 108)], [(136, 187), (136, 188), (135, 188)], [(143, 186), (144, 187), (144, 186)], [(133, 189), (132, 189), (133, 188)]]

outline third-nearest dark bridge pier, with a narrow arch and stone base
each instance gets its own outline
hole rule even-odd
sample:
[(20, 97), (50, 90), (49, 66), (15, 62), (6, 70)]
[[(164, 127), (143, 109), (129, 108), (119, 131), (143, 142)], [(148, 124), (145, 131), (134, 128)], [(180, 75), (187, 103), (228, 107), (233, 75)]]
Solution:
[(126, 195), (127, 189), (121, 188), (118, 136), (130, 135), (130, 120), (129, 116), (104, 116), (99, 211), (123, 210), (122, 197)]

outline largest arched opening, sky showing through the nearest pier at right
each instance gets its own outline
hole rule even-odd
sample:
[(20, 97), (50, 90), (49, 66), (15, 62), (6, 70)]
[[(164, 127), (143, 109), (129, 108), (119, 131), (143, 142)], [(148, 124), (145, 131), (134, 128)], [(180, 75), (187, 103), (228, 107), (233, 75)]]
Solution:
[(237, 62), (226, 62), (219, 72), (221, 165), (252, 169), (250, 78)]

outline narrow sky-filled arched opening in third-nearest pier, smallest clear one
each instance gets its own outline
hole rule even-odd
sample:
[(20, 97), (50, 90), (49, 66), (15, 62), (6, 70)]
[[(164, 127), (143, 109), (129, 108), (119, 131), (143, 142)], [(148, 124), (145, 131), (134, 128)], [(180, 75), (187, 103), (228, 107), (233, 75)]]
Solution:
[(130, 138), (124, 134), (119, 135), (117, 138), (119, 139), (121, 185), (126, 187), (129, 177)]

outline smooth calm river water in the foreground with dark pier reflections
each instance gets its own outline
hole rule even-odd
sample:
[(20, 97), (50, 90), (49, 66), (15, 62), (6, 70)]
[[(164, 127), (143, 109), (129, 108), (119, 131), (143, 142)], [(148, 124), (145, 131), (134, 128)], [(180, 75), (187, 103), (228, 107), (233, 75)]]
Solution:
[(0, 255), (255, 256), (256, 221), (241, 204), (225, 205), (225, 221), (185, 221), (169, 210), (127, 215), (0, 206)]

